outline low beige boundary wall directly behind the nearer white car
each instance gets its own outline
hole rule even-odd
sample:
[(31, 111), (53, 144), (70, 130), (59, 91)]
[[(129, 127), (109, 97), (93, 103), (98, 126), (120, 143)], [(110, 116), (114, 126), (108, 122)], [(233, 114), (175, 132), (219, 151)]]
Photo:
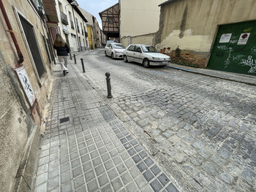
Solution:
[(122, 37), (121, 43), (125, 47), (130, 44), (154, 45), (154, 34), (145, 34), (135, 37)]

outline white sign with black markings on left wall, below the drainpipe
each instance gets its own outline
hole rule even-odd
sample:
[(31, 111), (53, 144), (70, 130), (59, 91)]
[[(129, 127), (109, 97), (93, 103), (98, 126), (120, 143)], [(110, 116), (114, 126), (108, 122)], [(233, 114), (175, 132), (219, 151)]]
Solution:
[(18, 78), (20, 80), (21, 85), (23, 86), (23, 90), (26, 93), (26, 97), (29, 99), (29, 104), (32, 107), (34, 101), (36, 100), (36, 96), (34, 95), (34, 91), (29, 81), (28, 74), (26, 74), (26, 70), (24, 66), (21, 66), (18, 69), (15, 69), (18, 74)]

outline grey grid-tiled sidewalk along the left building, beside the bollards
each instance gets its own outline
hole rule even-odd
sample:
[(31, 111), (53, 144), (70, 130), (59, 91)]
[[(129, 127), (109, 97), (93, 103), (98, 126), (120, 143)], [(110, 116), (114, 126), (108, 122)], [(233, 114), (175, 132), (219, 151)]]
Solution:
[(178, 191), (74, 64), (53, 77), (34, 191)]

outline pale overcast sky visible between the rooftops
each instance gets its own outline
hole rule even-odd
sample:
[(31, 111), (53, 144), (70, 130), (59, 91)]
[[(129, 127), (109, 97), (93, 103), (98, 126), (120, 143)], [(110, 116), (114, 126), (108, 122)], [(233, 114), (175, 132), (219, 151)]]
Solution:
[(76, 0), (79, 7), (94, 15), (97, 18), (99, 27), (102, 28), (102, 20), (99, 17), (99, 12), (108, 9), (108, 7), (113, 6), (118, 3), (118, 0)]

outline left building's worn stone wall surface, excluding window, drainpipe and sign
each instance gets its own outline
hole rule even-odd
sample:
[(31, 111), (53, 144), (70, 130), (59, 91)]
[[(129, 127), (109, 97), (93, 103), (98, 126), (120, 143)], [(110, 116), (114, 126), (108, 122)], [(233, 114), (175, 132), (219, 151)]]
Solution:
[[(7, 25), (0, 11), (0, 191), (11, 191), (20, 163), (24, 158), (26, 159), (24, 155), (29, 151), (30, 142), (33, 142), (34, 137), (39, 137), (36, 132), (41, 123), (42, 110), (52, 80), (50, 74), (51, 64), (48, 62), (48, 56), (42, 40), (42, 34), (46, 35), (46, 31), (31, 4), (23, 0), (4, 0), (3, 4), (16, 39), (18, 39), (18, 45), (24, 57), (23, 65), (38, 101), (37, 107), (30, 108), (18, 78), (13, 71), (15, 64), (17, 64), (18, 56), (12, 38), (6, 31)], [(41, 78), (37, 75), (34, 61), (32, 61), (29, 50), (26, 47), (26, 41), (20, 33), (19, 21), (12, 6), (18, 9), (34, 26), (46, 70)], [(37, 143), (35, 142), (35, 144)], [(35, 149), (37, 149), (37, 145), (31, 148), (31, 150)], [(31, 167), (31, 172), (33, 168)], [(26, 180), (30, 182), (31, 178), (26, 177)]]

